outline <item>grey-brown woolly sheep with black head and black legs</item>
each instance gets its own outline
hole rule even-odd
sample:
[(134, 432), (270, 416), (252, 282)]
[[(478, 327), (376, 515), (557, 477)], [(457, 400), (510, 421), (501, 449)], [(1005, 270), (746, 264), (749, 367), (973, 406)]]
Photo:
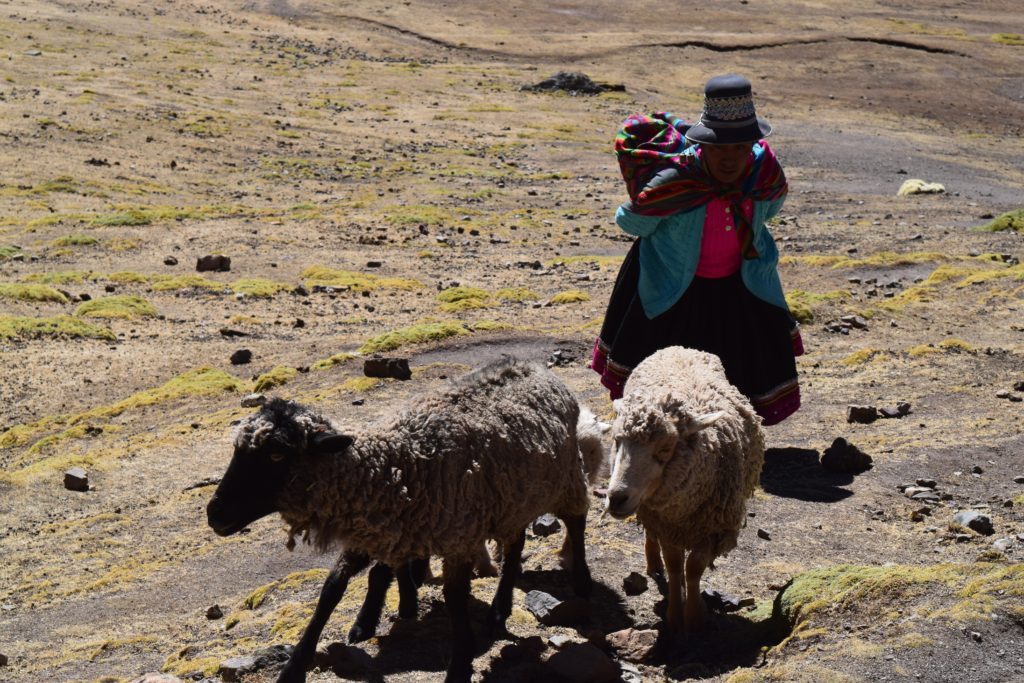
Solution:
[(579, 405), (550, 371), (503, 358), (421, 397), (357, 436), (291, 401), (244, 420), (234, 455), (207, 507), (221, 536), (274, 511), (322, 550), (344, 551), (279, 681), (303, 681), (316, 641), (348, 581), (371, 559), (392, 567), (440, 556), (453, 630), (447, 681), (468, 681), (474, 642), (467, 603), (473, 561), (486, 539), (504, 545), (487, 624), (504, 626), (521, 570), (525, 527), (550, 512), (564, 522), (571, 578), (588, 595), (584, 551), (587, 481), (577, 443)]

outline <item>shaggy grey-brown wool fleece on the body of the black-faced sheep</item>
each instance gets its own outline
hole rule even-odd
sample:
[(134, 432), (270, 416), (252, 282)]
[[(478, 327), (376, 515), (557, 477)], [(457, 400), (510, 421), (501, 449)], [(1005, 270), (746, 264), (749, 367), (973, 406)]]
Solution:
[(550, 371), (511, 358), (418, 400), (345, 453), (299, 457), (279, 499), (293, 533), (388, 564), (471, 560), (537, 516), (585, 514), (579, 407)]

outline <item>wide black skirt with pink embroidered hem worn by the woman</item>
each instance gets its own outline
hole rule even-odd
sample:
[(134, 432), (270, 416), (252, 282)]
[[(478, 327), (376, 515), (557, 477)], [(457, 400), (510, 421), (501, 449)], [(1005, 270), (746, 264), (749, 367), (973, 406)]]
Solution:
[(726, 377), (764, 424), (781, 422), (800, 408), (796, 356), (803, 344), (787, 310), (752, 294), (737, 271), (694, 278), (672, 308), (649, 318), (637, 293), (639, 276), (637, 240), (618, 270), (591, 361), (613, 399), (641, 360), (667, 346), (685, 346), (721, 358)]

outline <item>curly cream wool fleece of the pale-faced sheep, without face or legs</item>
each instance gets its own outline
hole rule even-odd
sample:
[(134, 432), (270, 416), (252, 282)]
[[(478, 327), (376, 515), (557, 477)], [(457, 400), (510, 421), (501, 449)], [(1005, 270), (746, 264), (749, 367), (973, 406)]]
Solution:
[(637, 510), (664, 543), (713, 558), (736, 547), (764, 464), (761, 419), (721, 360), (679, 346), (657, 351), (630, 375), (615, 423), (616, 433), (650, 441), (683, 433), (689, 418), (716, 411), (725, 416), (679, 438), (659, 484)]

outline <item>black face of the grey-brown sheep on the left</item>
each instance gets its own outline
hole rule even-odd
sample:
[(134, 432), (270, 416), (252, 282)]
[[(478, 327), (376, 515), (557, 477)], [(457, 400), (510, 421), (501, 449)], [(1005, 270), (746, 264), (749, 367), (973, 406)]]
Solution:
[(278, 496), (289, 479), (289, 458), (272, 442), (258, 451), (234, 450), (220, 485), (206, 507), (218, 536), (230, 536), (276, 511)]

